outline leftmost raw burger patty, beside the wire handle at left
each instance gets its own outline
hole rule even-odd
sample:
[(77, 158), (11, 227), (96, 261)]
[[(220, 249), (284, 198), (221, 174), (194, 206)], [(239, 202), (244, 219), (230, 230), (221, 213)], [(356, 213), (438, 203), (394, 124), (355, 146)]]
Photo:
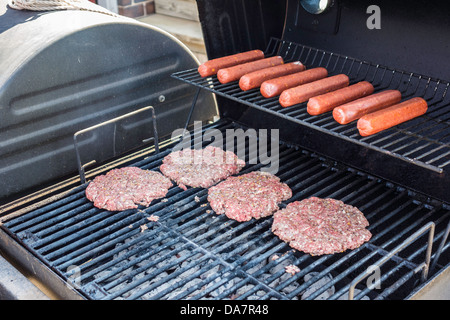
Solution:
[(86, 197), (94, 206), (109, 211), (148, 206), (166, 195), (172, 182), (161, 173), (137, 167), (113, 169), (97, 176), (86, 188)]

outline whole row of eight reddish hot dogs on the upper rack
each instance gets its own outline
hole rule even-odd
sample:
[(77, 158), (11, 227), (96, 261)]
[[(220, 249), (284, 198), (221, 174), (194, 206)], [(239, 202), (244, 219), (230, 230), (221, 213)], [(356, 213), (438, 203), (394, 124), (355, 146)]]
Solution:
[(280, 56), (265, 58), (252, 50), (209, 60), (199, 66), (202, 77), (217, 75), (220, 83), (239, 81), (244, 90), (260, 88), (266, 98), (279, 96), (282, 107), (307, 103), (307, 112), (333, 112), (340, 124), (357, 121), (361, 136), (368, 136), (423, 115), (427, 102), (414, 97), (401, 101), (398, 90), (374, 92), (370, 82), (350, 85), (345, 74), (328, 76), (325, 68), (306, 70), (300, 62), (284, 63)]

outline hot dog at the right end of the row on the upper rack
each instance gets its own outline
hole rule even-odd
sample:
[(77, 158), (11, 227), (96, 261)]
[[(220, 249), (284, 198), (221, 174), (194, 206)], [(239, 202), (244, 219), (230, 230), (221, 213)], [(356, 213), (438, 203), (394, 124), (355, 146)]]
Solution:
[(369, 113), (361, 117), (356, 126), (359, 134), (369, 136), (421, 116), (427, 112), (427, 102), (415, 97), (399, 104)]

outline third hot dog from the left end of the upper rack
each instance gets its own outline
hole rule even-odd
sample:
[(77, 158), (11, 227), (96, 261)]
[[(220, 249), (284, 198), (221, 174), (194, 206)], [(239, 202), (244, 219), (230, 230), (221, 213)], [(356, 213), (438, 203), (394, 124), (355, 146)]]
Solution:
[(239, 80), (239, 87), (244, 90), (258, 88), (261, 84), (269, 79), (278, 78), (295, 72), (305, 70), (306, 67), (300, 62), (290, 62), (279, 66), (265, 68), (247, 73)]

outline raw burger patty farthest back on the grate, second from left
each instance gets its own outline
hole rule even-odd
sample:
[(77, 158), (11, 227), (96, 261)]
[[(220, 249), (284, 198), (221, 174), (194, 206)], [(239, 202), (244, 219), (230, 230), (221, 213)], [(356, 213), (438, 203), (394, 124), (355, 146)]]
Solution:
[(245, 166), (233, 152), (208, 146), (174, 151), (163, 159), (161, 172), (186, 190), (186, 186), (208, 188), (238, 173)]

